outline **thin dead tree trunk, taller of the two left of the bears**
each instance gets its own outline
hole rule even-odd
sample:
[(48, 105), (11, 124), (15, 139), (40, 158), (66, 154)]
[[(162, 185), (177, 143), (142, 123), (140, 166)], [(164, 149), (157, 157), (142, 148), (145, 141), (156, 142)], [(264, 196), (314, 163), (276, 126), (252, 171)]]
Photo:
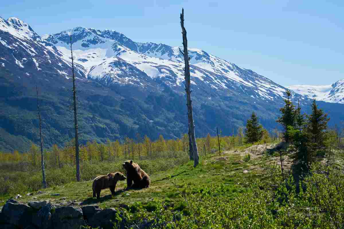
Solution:
[(79, 133), (78, 133), (78, 115), (76, 105), (76, 88), (74, 75), (74, 59), (72, 49), (72, 33), (69, 34), (71, 40), (71, 55), (72, 55), (72, 75), (73, 75), (73, 108), (74, 108), (74, 130), (75, 130), (75, 164), (76, 164), (76, 181), (80, 181), (80, 161), (79, 161)]

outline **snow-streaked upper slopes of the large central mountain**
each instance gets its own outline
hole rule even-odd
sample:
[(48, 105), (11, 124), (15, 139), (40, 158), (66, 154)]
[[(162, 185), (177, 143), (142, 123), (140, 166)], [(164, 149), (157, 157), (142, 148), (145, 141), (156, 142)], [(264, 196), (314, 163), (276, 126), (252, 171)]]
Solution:
[[(101, 79), (107, 83), (133, 83), (132, 78), (118, 77), (123, 66), (111, 63), (126, 62), (131, 71), (144, 72), (152, 79), (159, 79), (172, 88), (182, 89), (184, 81), (184, 61), (179, 47), (164, 44), (137, 43), (125, 35), (110, 30), (77, 27), (72, 31), (63, 31), (49, 35), (45, 40), (70, 56), (68, 33), (73, 33), (73, 49), (76, 62), (85, 69), (87, 78)], [(190, 48), (190, 66), (192, 84), (214, 90), (238, 90), (258, 100), (275, 100), (283, 96), (285, 88), (257, 73), (222, 60), (204, 50)], [(138, 74), (138, 73), (135, 73)], [(140, 75), (140, 74), (138, 74)], [(142, 84), (142, 87), (144, 85)]]

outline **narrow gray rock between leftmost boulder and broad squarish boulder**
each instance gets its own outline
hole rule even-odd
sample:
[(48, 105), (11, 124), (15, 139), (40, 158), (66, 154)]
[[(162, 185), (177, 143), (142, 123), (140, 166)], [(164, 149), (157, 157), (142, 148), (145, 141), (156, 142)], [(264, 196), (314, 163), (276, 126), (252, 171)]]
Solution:
[[(46, 202), (46, 201), (42, 201)], [(41, 206), (40, 210), (37, 211), (32, 217), (32, 224), (40, 229), (52, 228), (52, 209), (54, 206), (48, 203)]]

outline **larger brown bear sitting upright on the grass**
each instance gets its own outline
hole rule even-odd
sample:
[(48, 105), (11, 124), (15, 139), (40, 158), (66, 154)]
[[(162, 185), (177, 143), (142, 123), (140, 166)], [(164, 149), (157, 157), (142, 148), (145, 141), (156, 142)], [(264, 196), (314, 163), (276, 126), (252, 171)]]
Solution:
[(127, 171), (127, 189), (131, 187), (135, 188), (148, 188), (150, 185), (149, 175), (144, 172), (137, 163), (131, 161), (123, 162), (123, 168)]

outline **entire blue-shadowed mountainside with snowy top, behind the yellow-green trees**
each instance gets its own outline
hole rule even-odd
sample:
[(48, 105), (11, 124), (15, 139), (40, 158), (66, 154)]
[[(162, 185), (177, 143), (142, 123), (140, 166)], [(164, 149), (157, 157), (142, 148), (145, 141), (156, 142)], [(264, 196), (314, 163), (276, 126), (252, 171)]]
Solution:
[[(3, 150), (26, 149), (38, 142), (35, 85), (40, 88), (46, 147), (73, 137), (71, 51), (73, 34), (81, 136), (106, 141), (177, 138), (187, 132), (184, 60), (179, 47), (137, 43), (111, 30), (76, 27), (44, 36), (17, 18), (0, 18), (0, 142)], [(190, 41), (192, 44), (192, 41)], [(190, 45), (189, 44), (189, 45)], [(190, 48), (196, 136), (236, 134), (252, 111), (272, 130), (286, 88), (231, 62)], [(310, 99), (292, 93), (309, 111)], [(321, 103), (321, 102), (320, 102)], [(321, 103), (332, 121), (342, 118), (342, 104)], [(319, 104), (320, 105), (320, 104)], [(334, 112), (333, 112), (334, 111)], [(336, 112), (338, 111), (338, 112)], [(1, 147), (0, 147), (1, 150)]]

